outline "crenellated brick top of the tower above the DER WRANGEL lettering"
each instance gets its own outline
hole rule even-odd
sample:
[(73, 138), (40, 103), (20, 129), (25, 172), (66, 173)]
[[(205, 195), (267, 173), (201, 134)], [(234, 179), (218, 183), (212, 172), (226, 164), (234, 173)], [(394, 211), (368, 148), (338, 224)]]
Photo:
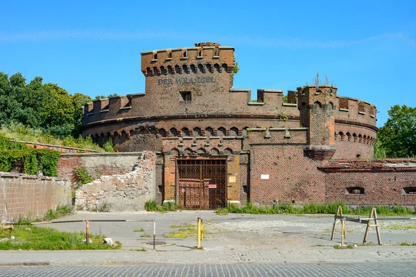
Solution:
[(141, 53), (141, 72), (146, 77), (214, 71), (232, 73), (233, 69), (234, 47), (213, 42)]

